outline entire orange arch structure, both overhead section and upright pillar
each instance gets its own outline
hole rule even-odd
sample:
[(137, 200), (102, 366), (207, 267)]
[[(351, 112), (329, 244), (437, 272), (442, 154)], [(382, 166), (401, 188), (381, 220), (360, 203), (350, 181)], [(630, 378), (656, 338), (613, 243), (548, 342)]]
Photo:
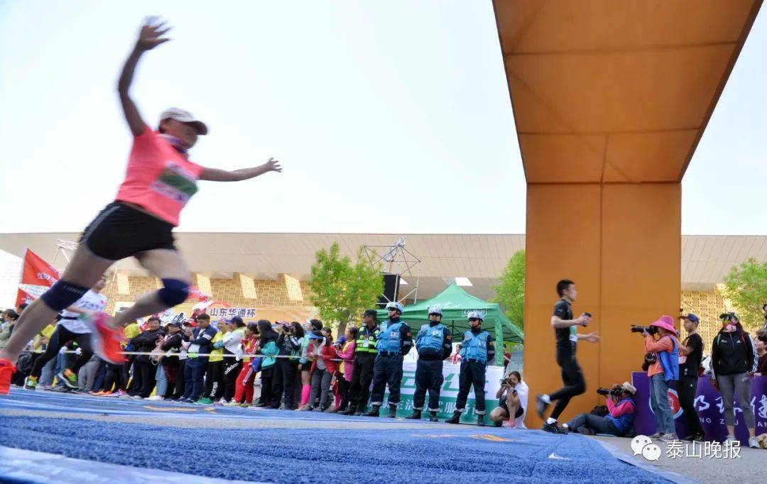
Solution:
[[(495, 0), (528, 183), (525, 380), (561, 386), (555, 284), (594, 314), (578, 359), (598, 385), (640, 367), (629, 324), (679, 313), (680, 181), (760, 0)], [(528, 413), (528, 415), (530, 415)], [(530, 423), (538, 423), (531, 416)]]

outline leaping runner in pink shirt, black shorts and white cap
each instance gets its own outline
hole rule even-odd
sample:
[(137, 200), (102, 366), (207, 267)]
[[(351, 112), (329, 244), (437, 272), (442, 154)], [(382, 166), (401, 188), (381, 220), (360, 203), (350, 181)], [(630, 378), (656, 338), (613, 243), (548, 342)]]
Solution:
[(142, 25), (135, 48), (123, 67), (117, 92), (131, 133), (125, 180), (114, 202), (87, 226), (81, 243), (61, 280), (21, 314), (7, 346), (0, 351), (0, 393), (8, 393), (15, 361), (28, 341), (54, 316), (93, 287), (115, 261), (136, 257), (146, 270), (163, 282), (163, 288), (141, 296), (115, 318), (99, 313), (90, 319), (94, 351), (112, 363), (120, 354), (122, 328), (129, 321), (164, 311), (186, 301), (190, 272), (173, 244), (173, 227), (179, 213), (196, 192), (197, 181), (234, 182), (268, 172), (281, 172), (277, 160), (253, 168), (226, 171), (206, 168), (189, 160), (188, 150), (208, 127), (192, 114), (170, 108), (160, 116), (157, 131), (142, 119), (129, 94), (133, 71), (141, 56), (170, 40), (164, 23), (148, 20)]

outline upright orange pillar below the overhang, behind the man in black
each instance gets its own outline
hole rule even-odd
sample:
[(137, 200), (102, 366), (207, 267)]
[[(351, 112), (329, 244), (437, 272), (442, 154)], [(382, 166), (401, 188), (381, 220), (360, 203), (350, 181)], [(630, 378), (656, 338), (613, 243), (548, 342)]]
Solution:
[[(529, 183), (525, 280), (525, 380), (536, 393), (561, 387), (551, 311), (558, 280), (578, 288), (576, 314), (593, 321), (602, 341), (578, 344), (587, 390), (571, 400), (565, 421), (601, 403), (594, 390), (630, 380), (644, 342), (630, 324), (676, 316), (681, 279), (680, 183)], [(528, 426), (541, 424), (528, 412)]]

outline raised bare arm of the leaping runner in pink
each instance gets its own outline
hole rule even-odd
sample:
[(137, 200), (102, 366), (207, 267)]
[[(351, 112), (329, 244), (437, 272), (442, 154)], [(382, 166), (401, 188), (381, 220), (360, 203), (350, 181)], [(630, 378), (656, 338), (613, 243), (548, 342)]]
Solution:
[(120, 104), (123, 105), (125, 120), (128, 122), (130, 132), (133, 133), (133, 136), (140, 136), (146, 129), (146, 123), (141, 119), (139, 110), (128, 93), (130, 90), (130, 83), (133, 82), (133, 72), (136, 71), (136, 65), (144, 52), (150, 51), (158, 45), (164, 44), (170, 40), (170, 38), (163, 38), (163, 35), (169, 31), (170, 28), (164, 28), (164, 22), (156, 25), (152, 25), (152, 22), (153, 19), (148, 18), (144, 22), (144, 25), (141, 26), (139, 38), (136, 41), (136, 47), (130, 52), (127, 61), (125, 61), (125, 65), (123, 66), (123, 71), (120, 73), (120, 81), (117, 81), (117, 93), (120, 94)]

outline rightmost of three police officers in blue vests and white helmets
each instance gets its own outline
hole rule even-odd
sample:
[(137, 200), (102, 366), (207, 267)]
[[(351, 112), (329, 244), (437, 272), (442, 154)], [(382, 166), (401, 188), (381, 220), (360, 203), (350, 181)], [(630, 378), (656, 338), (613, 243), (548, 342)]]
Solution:
[(492, 334), (482, 330), (484, 316), (480, 311), (469, 311), (469, 331), (463, 333), (461, 347), (461, 373), (458, 377), (458, 399), (453, 417), (446, 423), (459, 423), (461, 413), (466, 409), (469, 388), (474, 387), (477, 425), (485, 426), (485, 369), (495, 358), (495, 343)]

